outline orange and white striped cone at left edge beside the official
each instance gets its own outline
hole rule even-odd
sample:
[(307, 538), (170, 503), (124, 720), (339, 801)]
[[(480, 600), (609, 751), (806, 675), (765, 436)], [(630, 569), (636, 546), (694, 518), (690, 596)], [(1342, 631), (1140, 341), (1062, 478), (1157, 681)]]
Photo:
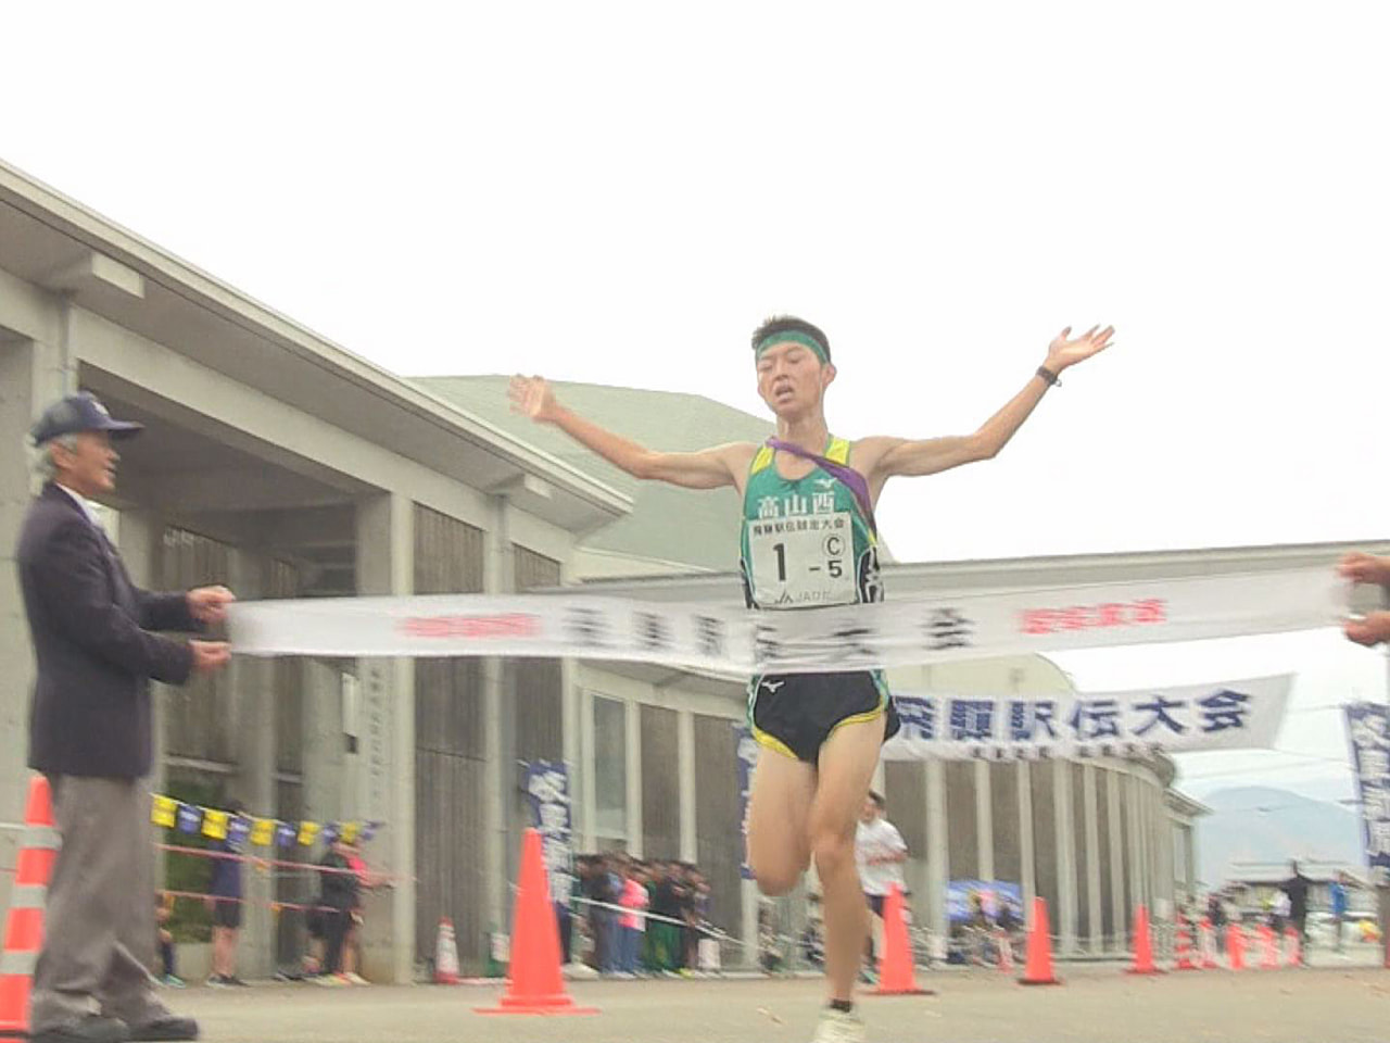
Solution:
[(42, 775), (29, 782), (29, 804), (24, 812), (24, 839), (10, 891), (10, 916), (0, 955), (0, 1039), (29, 1035), (29, 990), (33, 965), (43, 944), (43, 907), (58, 854), (58, 830), (53, 822), (53, 797)]

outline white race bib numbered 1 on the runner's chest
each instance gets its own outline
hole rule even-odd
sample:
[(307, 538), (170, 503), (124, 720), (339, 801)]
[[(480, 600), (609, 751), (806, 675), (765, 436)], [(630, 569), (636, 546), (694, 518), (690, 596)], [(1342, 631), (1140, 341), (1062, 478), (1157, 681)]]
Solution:
[(762, 608), (852, 605), (853, 545), (848, 510), (749, 522), (753, 601)]

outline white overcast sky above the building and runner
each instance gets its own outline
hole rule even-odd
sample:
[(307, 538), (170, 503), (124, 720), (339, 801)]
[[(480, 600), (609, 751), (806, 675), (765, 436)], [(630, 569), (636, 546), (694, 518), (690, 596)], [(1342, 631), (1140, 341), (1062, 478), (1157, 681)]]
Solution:
[[(1061, 327), (1113, 323), (999, 459), (888, 487), (902, 559), (1372, 538), (1387, 24), (1339, 3), (24, 4), (0, 156), (406, 374), (760, 412), (748, 334), (792, 312), (831, 338), (837, 432), (960, 434)], [(1162, 662), (1240, 676), (1295, 645)], [(1294, 658), (1301, 706), (1384, 694), (1373, 654)], [(1159, 662), (1068, 666), (1125, 687)], [(1340, 720), (1289, 738), (1336, 718), (1291, 716), (1283, 745), (1344, 758)]]

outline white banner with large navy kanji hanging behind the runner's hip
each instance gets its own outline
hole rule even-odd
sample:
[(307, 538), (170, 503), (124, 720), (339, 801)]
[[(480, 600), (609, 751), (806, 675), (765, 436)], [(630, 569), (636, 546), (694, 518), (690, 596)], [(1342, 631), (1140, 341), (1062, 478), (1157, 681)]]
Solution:
[(902, 729), (885, 761), (1045, 759), (1275, 744), (1293, 677), (1058, 695), (894, 693)]

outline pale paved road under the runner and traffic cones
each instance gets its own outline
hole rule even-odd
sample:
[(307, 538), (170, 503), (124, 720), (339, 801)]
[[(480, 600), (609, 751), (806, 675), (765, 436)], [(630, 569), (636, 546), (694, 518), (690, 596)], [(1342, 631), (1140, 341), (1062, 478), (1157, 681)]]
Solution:
[[(1390, 971), (1327, 968), (1129, 978), (1069, 971), (1024, 989), (999, 975), (934, 975), (931, 997), (863, 1001), (870, 1040), (954, 1043), (1380, 1043), (1390, 1039)], [(489, 1018), (498, 989), (322, 989), (311, 985), (170, 993), (210, 1043), (805, 1043), (813, 980), (581, 982), (587, 1018)]]

